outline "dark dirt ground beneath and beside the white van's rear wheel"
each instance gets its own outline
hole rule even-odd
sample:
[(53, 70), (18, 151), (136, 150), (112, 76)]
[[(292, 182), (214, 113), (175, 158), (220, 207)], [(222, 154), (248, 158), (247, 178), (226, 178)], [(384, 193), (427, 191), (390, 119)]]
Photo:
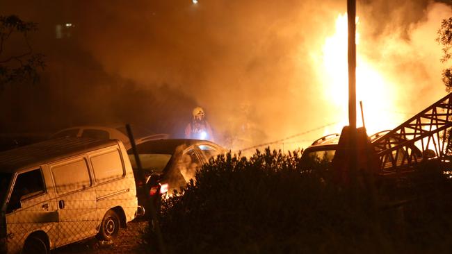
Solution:
[(112, 242), (99, 241), (95, 237), (91, 237), (57, 248), (52, 253), (146, 253), (143, 246), (140, 246), (141, 235), (146, 226), (147, 221), (131, 221), (127, 224), (127, 228), (121, 228), (118, 236)]

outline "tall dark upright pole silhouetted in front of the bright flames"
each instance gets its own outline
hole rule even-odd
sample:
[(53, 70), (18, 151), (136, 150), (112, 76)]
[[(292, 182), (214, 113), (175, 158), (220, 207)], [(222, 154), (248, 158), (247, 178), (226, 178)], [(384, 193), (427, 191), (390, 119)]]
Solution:
[(356, 129), (356, 0), (347, 0), (348, 16), (348, 122)]

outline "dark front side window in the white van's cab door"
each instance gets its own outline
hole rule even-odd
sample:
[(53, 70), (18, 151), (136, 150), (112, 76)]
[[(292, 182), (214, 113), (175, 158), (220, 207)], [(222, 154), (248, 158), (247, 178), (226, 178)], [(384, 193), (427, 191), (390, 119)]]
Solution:
[(7, 212), (21, 208), (20, 201), (45, 192), (44, 180), (40, 169), (20, 173), (13, 187)]

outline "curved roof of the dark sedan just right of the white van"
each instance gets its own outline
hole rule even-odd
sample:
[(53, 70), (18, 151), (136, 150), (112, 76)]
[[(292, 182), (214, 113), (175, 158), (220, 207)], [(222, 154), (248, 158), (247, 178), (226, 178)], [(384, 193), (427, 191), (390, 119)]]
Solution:
[[(172, 154), (176, 151), (178, 146), (181, 145), (191, 146), (193, 144), (196, 144), (198, 146), (200, 145), (210, 145), (215, 147), (216, 149), (223, 149), (218, 144), (215, 144), (213, 142), (207, 141), (207, 140), (200, 140), (200, 139), (156, 139), (156, 140), (149, 140), (147, 142), (143, 142), (141, 144), (137, 144), (138, 152), (140, 151), (152, 151), (152, 153), (167, 153)], [(129, 149), (129, 152), (131, 149)]]

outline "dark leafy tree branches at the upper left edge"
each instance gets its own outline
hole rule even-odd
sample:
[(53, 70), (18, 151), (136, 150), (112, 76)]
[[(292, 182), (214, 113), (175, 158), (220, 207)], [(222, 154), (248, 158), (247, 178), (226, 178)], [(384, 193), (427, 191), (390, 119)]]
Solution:
[[(38, 69), (45, 67), (41, 53), (33, 53), (28, 33), (37, 31), (38, 24), (24, 22), (16, 15), (0, 15), (0, 88), (8, 83), (37, 82)], [(25, 43), (24, 49), (5, 49), (6, 42), (12, 40), (12, 35), (19, 35)]]

